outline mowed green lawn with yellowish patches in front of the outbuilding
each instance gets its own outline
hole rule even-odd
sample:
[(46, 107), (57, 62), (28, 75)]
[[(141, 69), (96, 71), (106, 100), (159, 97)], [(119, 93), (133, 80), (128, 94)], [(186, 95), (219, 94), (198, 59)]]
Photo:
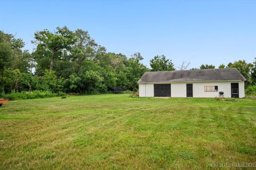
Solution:
[(0, 169), (211, 169), (233, 162), (256, 162), (255, 99), (93, 95), (0, 108)]

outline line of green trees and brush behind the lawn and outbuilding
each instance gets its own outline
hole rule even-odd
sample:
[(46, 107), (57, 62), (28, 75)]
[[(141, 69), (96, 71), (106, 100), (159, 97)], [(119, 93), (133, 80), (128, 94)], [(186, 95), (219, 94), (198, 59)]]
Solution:
[[(0, 94), (20, 91), (51, 91), (74, 94), (101, 94), (114, 87), (138, 90), (137, 81), (146, 71), (175, 70), (172, 60), (156, 55), (149, 69), (141, 63), (143, 57), (134, 53), (106, 52), (106, 48), (91, 38), (88, 31), (57, 27), (55, 31), (36, 31), (32, 53), (24, 50), (25, 43), (13, 34), (0, 31)], [(189, 62), (182, 62), (179, 70), (186, 70)], [(221, 64), (219, 68), (236, 67), (247, 79), (246, 87), (256, 83), (256, 58)], [(214, 69), (202, 64), (193, 69)]]

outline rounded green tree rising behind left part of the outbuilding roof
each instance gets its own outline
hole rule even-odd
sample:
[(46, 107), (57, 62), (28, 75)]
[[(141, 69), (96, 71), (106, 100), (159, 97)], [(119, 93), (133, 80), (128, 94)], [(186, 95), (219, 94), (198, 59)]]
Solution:
[(150, 60), (151, 71), (170, 71), (175, 70), (172, 60), (166, 59), (164, 55), (156, 55)]

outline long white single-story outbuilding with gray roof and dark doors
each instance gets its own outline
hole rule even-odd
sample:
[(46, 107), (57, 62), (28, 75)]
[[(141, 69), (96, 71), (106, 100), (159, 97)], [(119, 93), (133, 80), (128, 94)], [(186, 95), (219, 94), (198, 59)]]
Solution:
[(236, 68), (145, 72), (139, 96), (243, 98), (244, 81)]

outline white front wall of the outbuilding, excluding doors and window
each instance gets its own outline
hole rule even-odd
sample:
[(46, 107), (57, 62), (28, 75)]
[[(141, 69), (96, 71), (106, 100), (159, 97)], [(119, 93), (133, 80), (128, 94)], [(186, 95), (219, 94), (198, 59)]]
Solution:
[[(231, 97), (231, 83), (239, 83), (239, 98), (244, 95), (244, 81), (206, 81), (206, 82), (172, 82), (171, 97), (187, 97), (187, 83), (193, 83), (193, 97), (219, 97), (219, 91), (224, 92), (224, 97)], [(156, 84), (156, 83), (155, 83)], [(158, 83), (163, 84), (163, 83)], [(218, 91), (205, 92), (204, 86), (218, 86)], [(154, 83), (139, 84), (140, 97), (154, 97)]]

